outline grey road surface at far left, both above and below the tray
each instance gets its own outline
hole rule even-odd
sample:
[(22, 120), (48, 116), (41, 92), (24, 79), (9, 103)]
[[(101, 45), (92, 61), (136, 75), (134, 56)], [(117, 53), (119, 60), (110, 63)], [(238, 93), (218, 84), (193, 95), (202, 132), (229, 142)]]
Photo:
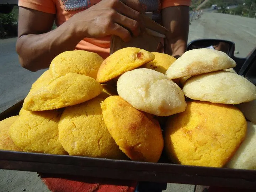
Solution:
[[(0, 39), (0, 113), (25, 98), (32, 83), (44, 72), (23, 69), (15, 51), (17, 38)], [(0, 192), (48, 192), (36, 172), (0, 170)]]

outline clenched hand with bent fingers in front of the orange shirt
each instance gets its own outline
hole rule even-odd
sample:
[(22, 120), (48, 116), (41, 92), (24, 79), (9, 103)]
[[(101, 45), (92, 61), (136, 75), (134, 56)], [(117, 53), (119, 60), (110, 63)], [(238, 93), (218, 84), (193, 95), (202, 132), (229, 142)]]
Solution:
[(128, 42), (144, 30), (138, 0), (102, 0), (70, 18), (82, 37), (100, 38), (116, 35)]

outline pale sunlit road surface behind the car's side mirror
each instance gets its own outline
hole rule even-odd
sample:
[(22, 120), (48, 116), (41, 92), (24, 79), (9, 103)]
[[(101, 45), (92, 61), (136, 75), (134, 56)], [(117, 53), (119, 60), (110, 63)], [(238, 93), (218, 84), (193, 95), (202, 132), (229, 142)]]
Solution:
[(191, 22), (188, 42), (203, 38), (233, 41), (239, 52), (235, 55), (246, 57), (256, 46), (256, 19), (204, 12), (199, 20)]

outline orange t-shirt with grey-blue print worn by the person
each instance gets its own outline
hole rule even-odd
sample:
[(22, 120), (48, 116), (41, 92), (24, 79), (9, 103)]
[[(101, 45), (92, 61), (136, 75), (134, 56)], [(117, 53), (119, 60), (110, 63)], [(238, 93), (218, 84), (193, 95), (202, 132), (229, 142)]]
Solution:
[[(19, 0), (18, 5), (29, 9), (55, 14), (55, 23), (60, 26), (74, 14), (86, 10), (101, 0)], [(189, 6), (191, 0), (140, 0), (146, 11), (164, 9), (166, 7), (185, 5)], [(152, 10), (154, 9), (154, 10)], [(106, 58), (110, 53), (110, 37), (84, 38), (78, 43), (76, 49), (95, 52)]]

